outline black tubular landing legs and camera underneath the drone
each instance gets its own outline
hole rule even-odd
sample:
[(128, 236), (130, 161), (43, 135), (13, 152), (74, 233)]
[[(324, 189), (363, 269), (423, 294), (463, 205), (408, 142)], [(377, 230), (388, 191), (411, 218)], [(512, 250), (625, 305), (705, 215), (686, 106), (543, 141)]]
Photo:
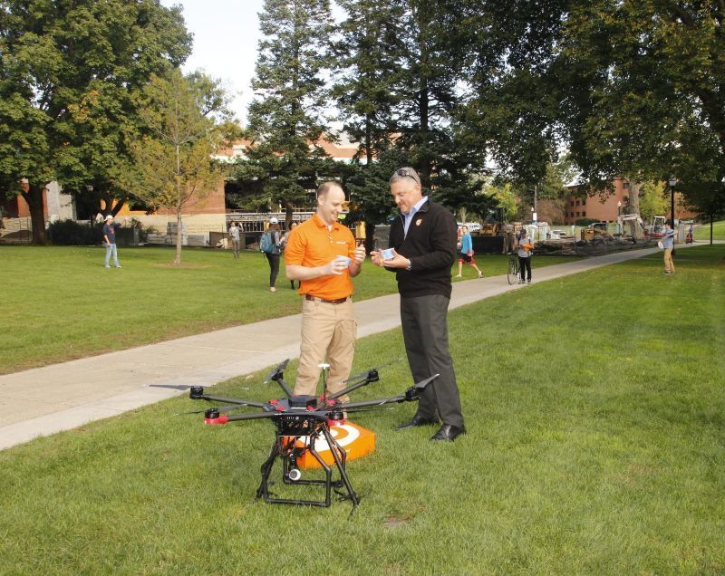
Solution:
[[(311, 423), (311, 421), (307, 421)], [(296, 428), (296, 427), (295, 427)], [(334, 466), (337, 468), (340, 478), (333, 480), (333, 466), (328, 466), (323, 458), (314, 449), (314, 440), (319, 435), (324, 436), (327, 441), (327, 445), (330, 446), (330, 452), (333, 455)], [(302, 450), (295, 446), (295, 441), (298, 438), (309, 438), (309, 445)], [(307, 450), (314, 456), (314, 459), (324, 470), (324, 480), (302, 480), (301, 473), (296, 465), (297, 456), (302, 456), (302, 451)], [(282, 480), (286, 485), (318, 485), (324, 486), (324, 500), (297, 500), (297, 499), (285, 499), (275, 498), (269, 494), (269, 475), (272, 473), (272, 468), (275, 466), (275, 460), (282, 458)], [(341, 492), (339, 489), (343, 488), (346, 490), (346, 494)], [(350, 480), (345, 473), (345, 451), (333, 438), (330, 433), (330, 427), (327, 422), (315, 422), (313, 431), (307, 429), (306, 431), (300, 431), (299, 429), (290, 429), (289, 426), (285, 426), (285, 422), (281, 422), (277, 426), (275, 443), (272, 445), (272, 449), (269, 452), (269, 457), (262, 465), (262, 484), (256, 491), (257, 498), (264, 498), (267, 504), (302, 504), (310, 506), (330, 506), (332, 502), (332, 492), (339, 494), (341, 500), (350, 500), (353, 502), (353, 508), (360, 504), (360, 500), (357, 494), (353, 491), (353, 486), (350, 485)]]

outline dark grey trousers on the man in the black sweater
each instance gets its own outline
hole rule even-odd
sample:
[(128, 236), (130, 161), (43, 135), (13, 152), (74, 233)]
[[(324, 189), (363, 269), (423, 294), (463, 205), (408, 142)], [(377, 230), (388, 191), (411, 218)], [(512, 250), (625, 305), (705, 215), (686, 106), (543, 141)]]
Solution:
[(423, 389), (418, 402), (421, 418), (440, 415), (444, 424), (463, 427), (459, 387), (448, 347), (449, 298), (440, 294), (403, 298), (402, 336), (415, 382), (440, 374)]

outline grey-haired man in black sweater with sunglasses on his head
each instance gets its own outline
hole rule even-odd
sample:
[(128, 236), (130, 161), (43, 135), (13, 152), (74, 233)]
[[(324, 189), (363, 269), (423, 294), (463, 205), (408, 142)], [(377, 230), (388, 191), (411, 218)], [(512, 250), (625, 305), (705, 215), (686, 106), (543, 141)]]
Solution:
[(452, 442), (466, 433), (448, 346), (456, 219), (446, 208), (422, 195), (420, 177), (413, 168), (395, 170), (390, 185), (401, 211), (391, 224), (389, 247), (393, 252), (372, 252), (372, 263), (396, 273), (402, 335), (413, 380), (420, 382), (440, 374), (420, 394), (411, 421), (396, 429), (438, 424), (440, 416), (443, 424), (430, 439)]

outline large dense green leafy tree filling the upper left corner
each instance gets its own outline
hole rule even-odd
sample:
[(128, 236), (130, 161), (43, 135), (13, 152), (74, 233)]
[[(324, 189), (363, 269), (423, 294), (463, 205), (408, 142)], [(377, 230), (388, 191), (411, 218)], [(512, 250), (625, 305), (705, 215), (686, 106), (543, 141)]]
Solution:
[(159, 0), (0, 5), (0, 189), (30, 206), (44, 244), (43, 187), (109, 182), (132, 93), (190, 51), (178, 8)]

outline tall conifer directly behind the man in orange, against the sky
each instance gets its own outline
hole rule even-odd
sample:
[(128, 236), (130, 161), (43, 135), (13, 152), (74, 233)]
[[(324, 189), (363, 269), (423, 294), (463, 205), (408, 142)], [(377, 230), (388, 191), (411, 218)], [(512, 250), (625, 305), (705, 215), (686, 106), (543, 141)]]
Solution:
[(333, 33), (328, 0), (266, 0), (247, 136), (253, 146), (234, 178), (261, 181), (269, 206), (306, 202), (318, 174), (330, 172), (319, 139), (326, 131), (324, 72)]

